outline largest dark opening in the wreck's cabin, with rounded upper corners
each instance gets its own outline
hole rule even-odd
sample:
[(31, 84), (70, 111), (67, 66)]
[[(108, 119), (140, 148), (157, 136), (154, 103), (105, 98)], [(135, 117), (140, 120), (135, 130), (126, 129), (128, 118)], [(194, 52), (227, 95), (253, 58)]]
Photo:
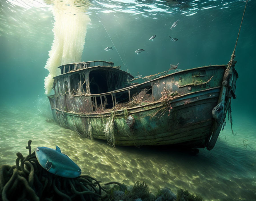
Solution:
[(109, 92), (106, 71), (91, 71), (89, 74), (89, 80), (91, 94), (101, 94)]

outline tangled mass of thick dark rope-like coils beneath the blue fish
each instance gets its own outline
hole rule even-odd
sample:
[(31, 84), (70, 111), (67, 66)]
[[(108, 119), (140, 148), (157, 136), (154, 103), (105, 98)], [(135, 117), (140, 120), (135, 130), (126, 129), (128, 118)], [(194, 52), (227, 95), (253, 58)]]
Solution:
[[(18, 152), (16, 164), (0, 167), (0, 200), (97, 200), (106, 201), (111, 190), (103, 188), (89, 176), (64, 178), (47, 172), (31, 152), (31, 140), (26, 147), (29, 155)], [(118, 182), (108, 184), (121, 185)]]

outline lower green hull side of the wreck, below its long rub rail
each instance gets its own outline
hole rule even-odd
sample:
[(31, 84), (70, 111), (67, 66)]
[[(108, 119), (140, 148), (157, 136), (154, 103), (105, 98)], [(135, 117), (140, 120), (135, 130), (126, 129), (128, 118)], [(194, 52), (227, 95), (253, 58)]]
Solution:
[[(215, 88), (176, 99), (171, 102), (173, 109), (170, 113), (161, 102), (129, 108), (129, 115), (135, 119), (133, 128), (127, 126), (124, 110), (115, 111), (113, 142), (123, 146), (185, 143), (191, 147), (204, 147), (211, 134), (212, 109), (217, 105), (219, 91)], [(104, 130), (112, 112), (86, 115), (57, 109), (52, 112), (55, 121), (62, 126), (81, 135), (111, 141), (111, 136), (108, 139)]]

